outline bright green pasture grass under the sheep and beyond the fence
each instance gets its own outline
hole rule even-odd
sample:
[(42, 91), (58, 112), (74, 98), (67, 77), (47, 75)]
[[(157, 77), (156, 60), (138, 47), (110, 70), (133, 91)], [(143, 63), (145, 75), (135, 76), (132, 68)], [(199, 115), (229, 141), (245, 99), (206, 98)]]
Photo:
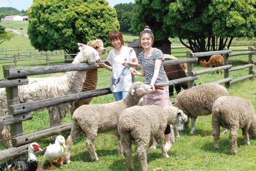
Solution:
[[(18, 28), (13, 24), (13, 27)], [(125, 40), (136, 39), (136, 37), (125, 35)], [(247, 42), (245, 42), (247, 43)], [(3, 46), (2, 46), (3, 45)], [(28, 39), (15, 36), (9, 42), (1, 44), (0, 49), (31, 49), (33, 48)], [(110, 50), (111, 47), (108, 47)], [(184, 52), (187, 51), (184, 49)], [(185, 55), (185, 54), (184, 54)], [(254, 55), (254, 60), (256, 56)], [(248, 61), (248, 55), (237, 56), (230, 58), (230, 63), (233, 66), (245, 65)], [(28, 61), (33, 62), (33, 61)], [(195, 65), (195, 70), (201, 70), (198, 65)], [(256, 67), (254, 67), (256, 70)], [(48, 75), (41, 75), (37, 77), (47, 77)], [(106, 69), (99, 69), (98, 88), (108, 87), (111, 77), (111, 72)], [(232, 78), (239, 78), (248, 75), (248, 69), (230, 72)], [(2, 77), (2, 72), (0, 72)], [(203, 74), (199, 75), (199, 79), (195, 81), (196, 84), (203, 84), (214, 82), (224, 78), (224, 74)], [(136, 81), (142, 81), (142, 77), (135, 77)], [(231, 95), (247, 98), (252, 101), (256, 109), (256, 78), (242, 81), (231, 85), (228, 88)], [(176, 94), (170, 96), (174, 98)], [(112, 94), (95, 97), (92, 104), (103, 104), (114, 101)], [(70, 114), (68, 114), (63, 123), (71, 121)], [(37, 131), (49, 127), (49, 117), (47, 110), (35, 111), (33, 120), (23, 122), (24, 133)], [(195, 134), (190, 135), (191, 126), (181, 133), (181, 140), (173, 144), (172, 149), (168, 152), (170, 158), (165, 159), (158, 148), (155, 151), (148, 151), (148, 166), (149, 171), (156, 168), (161, 168), (161, 171), (254, 171), (256, 160), (256, 139), (251, 139), (251, 145), (247, 146), (245, 139), (242, 136), (242, 131), (239, 131), (238, 136), (238, 155), (231, 154), (231, 147), (228, 145), (228, 134), (220, 138), (220, 150), (215, 151), (213, 147), (213, 137), (211, 133), (211, 116), (199, 117), (196, 120)], [(64, 133), (68, 136), (68, 132)], [(52, 143), (50, 138), (45, 138), (38, 143), (43, 149), (49, 143)], [(59, 166), (56, 171), (127, 171), (126, 160), (117, 154), (117, 138), (114, 131), (99, 133), (95, 142), (95, 148), (98, 153), (99, 162), (91, 162), (89, 153), (85, 147), (85, 135), (81, 134), (75, 141), (71, 149), (71, 163), (69, 165)], [(136, 145), (133, 148), (133, 162), (135, 171), (139, 170), (138, 159), (136, 156)], [(0, 150), (6, 149), (5, 146), (0, 145)], [(50, 165), (45, 161), (43, 153), (37, 155), (39, 158), (40, 169), (49, 170)]]

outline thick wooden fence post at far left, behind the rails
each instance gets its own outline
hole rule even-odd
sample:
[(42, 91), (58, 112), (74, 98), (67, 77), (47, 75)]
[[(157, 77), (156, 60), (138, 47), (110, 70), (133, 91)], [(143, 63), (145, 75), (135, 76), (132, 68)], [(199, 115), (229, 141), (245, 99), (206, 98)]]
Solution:
[[(13, 65), (4, 65), (2, 66), (4, 78), (6, 78), (6, 69), (14, 68)], [(8, 115), (13, 115), (9, 106), (14, 104), (19, 104), (19, 95), (18, 95), (18, 86), (14, 87), (5, 87), (6, 91), (6, 100), (8, 105)], [(10, 136), (17, 136), (23, 134), (22, 122), (16, 124), (10, 124)], [(12, 145), (14, 142), (11, 142)]]

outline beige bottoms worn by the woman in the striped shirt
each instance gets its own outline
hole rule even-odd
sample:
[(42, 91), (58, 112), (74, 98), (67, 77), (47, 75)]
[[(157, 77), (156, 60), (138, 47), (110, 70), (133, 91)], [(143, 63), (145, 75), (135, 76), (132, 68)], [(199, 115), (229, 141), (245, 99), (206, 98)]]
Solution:
[(169, 86), (164, 86), (164, 89), (156, 89), (154, 92), (144, 95), (142, 105), (150, 104), (161, 107), (169, 106)]

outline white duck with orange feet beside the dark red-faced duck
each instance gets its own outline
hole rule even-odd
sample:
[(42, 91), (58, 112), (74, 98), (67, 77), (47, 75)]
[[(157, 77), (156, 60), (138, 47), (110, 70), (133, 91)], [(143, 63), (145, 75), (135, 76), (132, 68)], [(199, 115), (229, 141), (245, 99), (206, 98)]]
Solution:
[(62, 135), (58, 135), (56, 137), (55, 143), (51, 144), (46, 148), (44, 157), (46, 160), (48, 160), (51, 164), (51, 169), (55, 169), (56, 166), (53, 165), (52, 161), (58, 159), (57, 163), (61, 165), (62, 159), (61, 156), (64, 153), (64, 148), (66, 148), (65, 145), (65, 138)]

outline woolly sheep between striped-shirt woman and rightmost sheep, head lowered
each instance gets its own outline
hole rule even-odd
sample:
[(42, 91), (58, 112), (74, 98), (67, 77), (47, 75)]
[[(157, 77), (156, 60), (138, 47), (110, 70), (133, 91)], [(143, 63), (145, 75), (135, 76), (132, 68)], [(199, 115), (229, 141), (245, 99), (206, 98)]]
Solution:
[[(181, 91), (176, 98), (175, 106), (191, 118), (192, 129), (195, 131), (195, 120), (198, 116), (210, 115), (214, 101), (220, 96), (227, 96), (227, 89), (215, 83), (196, 85)], [(177, 132), (179, 133), (179, 132)]]

